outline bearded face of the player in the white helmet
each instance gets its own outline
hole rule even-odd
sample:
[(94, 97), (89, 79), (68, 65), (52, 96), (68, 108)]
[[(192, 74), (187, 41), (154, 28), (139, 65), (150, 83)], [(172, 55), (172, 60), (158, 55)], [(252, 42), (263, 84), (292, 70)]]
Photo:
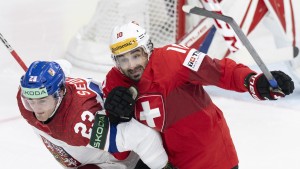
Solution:
[(148, 55), (139, 47), (117, 56), (117, 64), (121, 71), (130, 79), (139, 81), (148, 63)]

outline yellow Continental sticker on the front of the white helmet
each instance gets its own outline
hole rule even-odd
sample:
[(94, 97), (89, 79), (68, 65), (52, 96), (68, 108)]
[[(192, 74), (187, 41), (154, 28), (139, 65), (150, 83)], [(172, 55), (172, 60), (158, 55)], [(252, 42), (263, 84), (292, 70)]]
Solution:
[(125, 39), (110, 46), (113, 54), (119, 55), (138, 46), (136, 38)]

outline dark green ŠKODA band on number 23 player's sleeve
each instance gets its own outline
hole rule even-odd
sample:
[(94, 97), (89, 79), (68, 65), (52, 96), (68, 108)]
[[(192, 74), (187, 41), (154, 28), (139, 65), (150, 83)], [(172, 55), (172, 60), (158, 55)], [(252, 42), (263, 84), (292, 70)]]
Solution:
[(90, 145), (92, 147), (104, 150), (109, 131), (108, 117), (103, 114), (96, 114), (93, 125)]

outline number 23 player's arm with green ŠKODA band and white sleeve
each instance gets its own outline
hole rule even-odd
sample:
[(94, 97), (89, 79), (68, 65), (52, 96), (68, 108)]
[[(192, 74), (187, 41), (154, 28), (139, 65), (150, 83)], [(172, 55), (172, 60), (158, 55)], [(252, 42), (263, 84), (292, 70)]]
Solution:
[(90, 145), (110, 153), (134, 151), (150, 168), (164, 168), (168, 156), (158, 132), (131, 119), (112, 124), (104, 111), (95, 116)]

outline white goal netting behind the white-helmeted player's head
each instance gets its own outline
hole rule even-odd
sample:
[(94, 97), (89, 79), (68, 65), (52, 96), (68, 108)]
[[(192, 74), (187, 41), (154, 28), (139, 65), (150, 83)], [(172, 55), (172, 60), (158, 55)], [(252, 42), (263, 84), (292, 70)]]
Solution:
[(91, 21), (71, 40), (66, 58), (74, 65), (107, 71), (112, 65), (110, 33), (116, 25), (137, 21), (155, 47), (176, 40), (177, 0), (100, 0)]

